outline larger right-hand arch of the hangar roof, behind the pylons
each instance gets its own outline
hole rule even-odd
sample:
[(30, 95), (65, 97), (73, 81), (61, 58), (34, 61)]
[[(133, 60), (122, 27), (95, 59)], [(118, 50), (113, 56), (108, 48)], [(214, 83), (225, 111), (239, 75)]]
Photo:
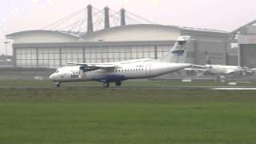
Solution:
[(86, 42), (166, 41), (176, 40), (179, 35), (178, 26), (141, 24), (98, 30), (85, 34), (82, 39)]

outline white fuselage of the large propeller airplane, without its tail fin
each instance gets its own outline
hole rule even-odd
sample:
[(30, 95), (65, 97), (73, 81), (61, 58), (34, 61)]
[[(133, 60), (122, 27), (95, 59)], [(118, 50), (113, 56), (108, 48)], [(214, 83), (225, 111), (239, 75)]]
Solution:
[(186, 63), (165, 63), (165, 62), (131, 62), (116, 63), (115, 69), (93, 70), (83, 72), (80, 66), (68, 66), (59, 68), (50, 79), (54, 82), (79, 82), (79, 81), (98, 81), (109, 82), (123, 81), (126, 79), (154, 78), (172, 71), (182, 70), (190, 67)]

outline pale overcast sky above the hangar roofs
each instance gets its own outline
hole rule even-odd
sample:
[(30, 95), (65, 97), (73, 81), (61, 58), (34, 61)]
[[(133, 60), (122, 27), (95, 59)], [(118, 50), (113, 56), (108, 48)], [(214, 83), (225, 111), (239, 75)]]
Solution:
[(5, 51), (4, 34), (41, 29), (89, 4), (125, 8), (162, 25), (226, 31), (256, 19), (255, 0), (0, 0), (0, 54)]

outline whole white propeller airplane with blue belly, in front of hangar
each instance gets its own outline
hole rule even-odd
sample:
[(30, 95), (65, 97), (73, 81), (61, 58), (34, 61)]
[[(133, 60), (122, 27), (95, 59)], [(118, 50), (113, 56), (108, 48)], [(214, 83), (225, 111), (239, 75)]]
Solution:
[(69, 62), (68, 64), (73, 66), (58, 68), (54, 74), (50, 75), (50, 80), (54, 81), (55, 86), (58, 87), (62, 82), (84, 81), (102, 82), (103, 87), (109, 87), (110, 82), (121, 86), (122, 81), (128, 79), (154, 78), (192, 66), (190, 63), (184, 63), (188, 42), (190, 42), (190, 36), (178, 37), (170, 52), (158, 59), (142, 58), (106, 63)]

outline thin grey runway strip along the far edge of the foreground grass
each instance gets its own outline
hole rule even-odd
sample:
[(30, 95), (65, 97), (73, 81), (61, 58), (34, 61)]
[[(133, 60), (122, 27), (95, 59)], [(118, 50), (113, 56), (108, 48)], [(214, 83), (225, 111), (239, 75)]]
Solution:
[(0, 86), (0, 90), (256, 90), (256, 86)]

